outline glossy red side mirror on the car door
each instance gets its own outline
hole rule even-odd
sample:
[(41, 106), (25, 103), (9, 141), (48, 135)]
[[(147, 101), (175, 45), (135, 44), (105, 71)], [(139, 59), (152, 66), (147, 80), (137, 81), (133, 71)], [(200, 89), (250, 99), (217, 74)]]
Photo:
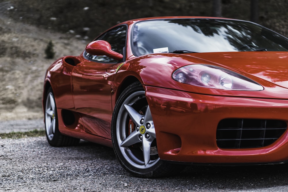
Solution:
[(86, 46), (86, 52), (91, 55), (105, 55), (117, 61), (123, 59), (123, 55), (112, 51), (111, 45), (107, 41), (92, 41)]

